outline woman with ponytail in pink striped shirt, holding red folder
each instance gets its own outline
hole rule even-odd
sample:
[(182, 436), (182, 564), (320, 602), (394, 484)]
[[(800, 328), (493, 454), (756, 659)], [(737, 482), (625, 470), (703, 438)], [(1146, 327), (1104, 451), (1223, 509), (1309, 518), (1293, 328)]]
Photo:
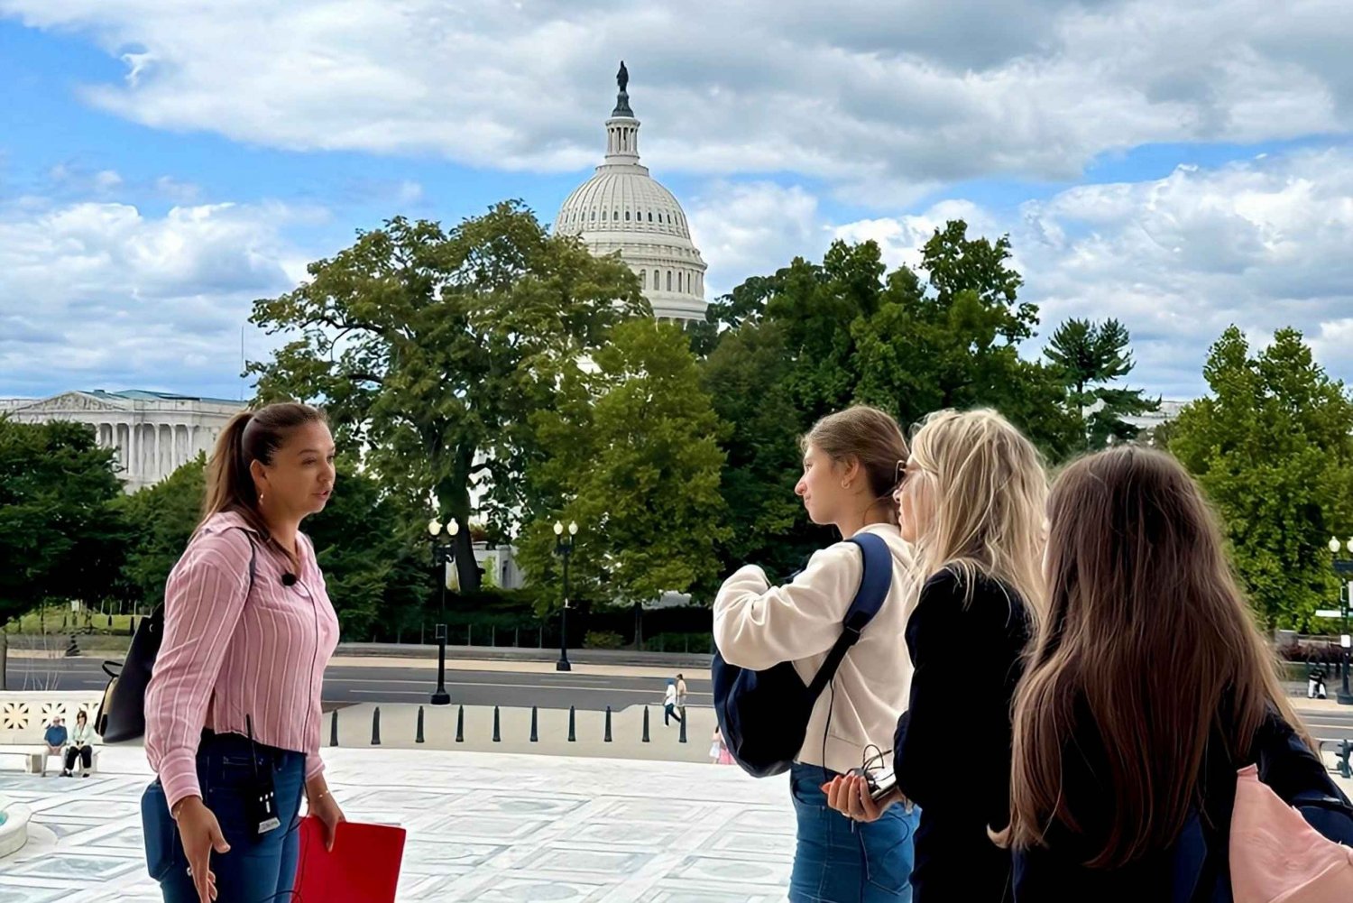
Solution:
[(338, 619), (299, 531), (333, 487), (333, 436), (308, 405), (242, 412), (216, 440), (146, 690), (158, 777), (141, 811), (165, 903), (288, 899), (302, 796), (333, 845), (319, 692)]

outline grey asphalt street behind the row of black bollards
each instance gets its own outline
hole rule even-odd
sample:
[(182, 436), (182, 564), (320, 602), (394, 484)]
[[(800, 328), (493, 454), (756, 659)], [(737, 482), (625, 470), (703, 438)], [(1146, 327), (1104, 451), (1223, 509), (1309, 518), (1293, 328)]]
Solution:
[[(108, 682), (95, 658), (9, 659), (9, 689), (100, 690)], [(709, 678), (687, 677), (691, 705), (712, 703)], [(551, 671), (446, 669), (446, 692), (453, 704), (518, 705), (540, 708), (621, 709), (662, 705), (666, 681)], [(331, 666), (325, 673), (326, 703), (423, 703), (437, 688), (437, 669), (426, 666)], [(1350, 728), (1353, 732), (1353, 728)]]

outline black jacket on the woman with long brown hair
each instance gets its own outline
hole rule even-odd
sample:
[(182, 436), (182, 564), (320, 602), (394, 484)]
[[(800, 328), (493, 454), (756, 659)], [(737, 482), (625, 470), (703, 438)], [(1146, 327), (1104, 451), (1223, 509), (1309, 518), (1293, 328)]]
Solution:
[[(1223, 703), (1220, 709), (1224, 708)], [(1047, 847), (1015, 854), (1015, 899), (1020, 903), (1081, 899), (1095, 903), (1229, 903), (1235, 772), (1252, 762), (1258, 765), (1260, 780), (1298, 806), (1316, 830), (1353, 845), (1353, 816), (1341, 811), (1348, 799), (1329, 778), (1323, 762), (1272, 711), (1250, 755), (1241, 762), (1215, 751), (1223, 750), (1226, 743), (1220, 728), (1212, 728), (1199, 781), (1200, 804), (1173, 845), (1118, 869), (1086, 868), (1082, 864), (1099, 849), (1108, 830), (1114, 789), (1108, 783), (1103, 741), (1084, 704), (1076, 705), (1076, 723), (1078, 727), (1063, 754), (1062, 781), (1080, 830), (1072, 834), (1054, 822), (1049, 826)], [(1086, 806), (1085, 800), (1101, 803)], [(1077, 801), (1081, 803), (1077, 806)]]

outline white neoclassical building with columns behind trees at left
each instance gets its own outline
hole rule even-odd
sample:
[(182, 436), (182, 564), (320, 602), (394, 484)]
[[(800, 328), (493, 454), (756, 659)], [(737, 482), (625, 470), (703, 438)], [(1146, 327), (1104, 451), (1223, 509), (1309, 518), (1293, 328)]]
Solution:
[(244, 408), (225, 398), (101, 389), (0, 399), (0, 414), (20, 424), (89, 424), (99, 445), (116, 449), (118, 477), (129, 493), (160, 482), (198, 452), (210, 455), (222, 428)]

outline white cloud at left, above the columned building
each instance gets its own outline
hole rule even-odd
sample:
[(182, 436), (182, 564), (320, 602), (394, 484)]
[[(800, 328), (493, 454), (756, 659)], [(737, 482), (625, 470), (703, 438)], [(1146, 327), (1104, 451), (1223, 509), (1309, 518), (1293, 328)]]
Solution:
[(250, 302), (285, 291), (277, 204), (0, 207), (4, 393), (237, 386)]

